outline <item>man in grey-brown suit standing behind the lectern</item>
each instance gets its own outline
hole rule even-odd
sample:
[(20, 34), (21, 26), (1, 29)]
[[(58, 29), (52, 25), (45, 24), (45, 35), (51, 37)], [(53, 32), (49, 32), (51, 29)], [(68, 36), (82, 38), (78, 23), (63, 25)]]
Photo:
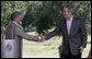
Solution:
[(32, 36), (32, 35), (24, 33), (22, 26), (19, 25), (22, 20), (22, 13), (20, 11), (14, 11), (11, 14), (11, 20), (12, 22), (5, 27), (5, 32), (4, 32), (5, 39), (19, 39), (20, 47), (22, 45), (23, 38), (27, 40), (33, 40), (33, 42), (44, 42), (43, 39), (41, 39), (42, 36)]

